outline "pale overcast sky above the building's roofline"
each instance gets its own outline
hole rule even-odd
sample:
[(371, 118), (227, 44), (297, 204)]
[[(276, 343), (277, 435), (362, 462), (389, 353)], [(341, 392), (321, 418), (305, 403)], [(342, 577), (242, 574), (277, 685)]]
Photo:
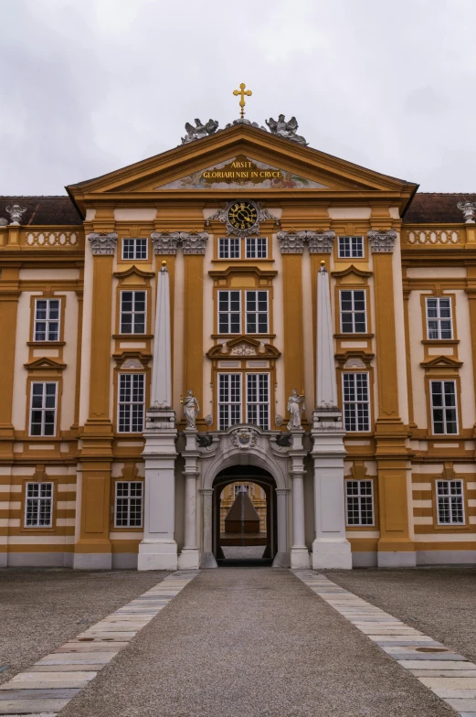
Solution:
[(0, 194), (296, 115), (309, 144), (422, 191), (476, 191), (476, 0), (0, 0)]

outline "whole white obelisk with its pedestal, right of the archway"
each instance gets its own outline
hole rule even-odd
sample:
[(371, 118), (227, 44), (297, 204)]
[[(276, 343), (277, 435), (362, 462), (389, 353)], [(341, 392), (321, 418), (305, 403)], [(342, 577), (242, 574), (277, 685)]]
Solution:
[(314, 526), (312, 568), (352, 568), (345, 538), (344, 427), (337, 406), (329, 276), (317, 276), (317, 408), (312, 413)]

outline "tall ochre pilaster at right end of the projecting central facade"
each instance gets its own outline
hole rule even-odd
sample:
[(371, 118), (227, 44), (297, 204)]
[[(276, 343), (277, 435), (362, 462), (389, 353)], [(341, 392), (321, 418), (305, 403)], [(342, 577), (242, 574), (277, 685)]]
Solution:
[[(378, 418), (376, 420), (376, 461), (380, 540), (377, 545), (379, 567), (413, 567), (415, 544), (410, 538), (407, 495), (407, 429), (398, 408), (397, 360), (405, 361), (404, 326), (397, 327), (388, 316), (395, 316), (393, 262), (400, 262), (397, 231), (370, 230), (370, 250), (374, 262), (376, 306), (376, 366)], [(397, 331), (399, 335), (397, 338)]]

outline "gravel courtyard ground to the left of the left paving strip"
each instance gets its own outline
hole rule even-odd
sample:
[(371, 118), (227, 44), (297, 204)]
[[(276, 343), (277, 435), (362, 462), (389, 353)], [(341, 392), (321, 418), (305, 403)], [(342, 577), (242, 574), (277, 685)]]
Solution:
[(0, 684), (169, 573), (0, 570)]

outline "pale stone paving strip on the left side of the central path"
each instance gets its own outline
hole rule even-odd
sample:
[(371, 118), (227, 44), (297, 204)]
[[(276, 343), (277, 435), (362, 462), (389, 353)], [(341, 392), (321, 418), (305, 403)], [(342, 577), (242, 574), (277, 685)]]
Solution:
[(0, 715), (54, 717), (195, 577), (179, 571), (0, 685)]

